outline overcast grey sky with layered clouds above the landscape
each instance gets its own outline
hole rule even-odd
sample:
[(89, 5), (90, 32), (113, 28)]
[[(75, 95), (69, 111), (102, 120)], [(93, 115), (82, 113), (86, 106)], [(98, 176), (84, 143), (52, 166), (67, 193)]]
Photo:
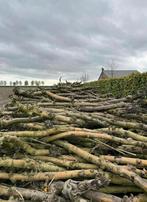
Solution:
[(147, 0), (0, 0), (0, 80), (147, 71)]

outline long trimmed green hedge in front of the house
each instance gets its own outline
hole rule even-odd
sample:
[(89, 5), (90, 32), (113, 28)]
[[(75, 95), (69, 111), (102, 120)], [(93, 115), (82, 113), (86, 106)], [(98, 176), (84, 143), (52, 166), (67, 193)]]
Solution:
[(139, 90), (147, 92), (147, 73), (135, 73), (123, 78), (103, 79), (83, 84), (100, 93), (111, 93), (115, 97), (134, 95)]

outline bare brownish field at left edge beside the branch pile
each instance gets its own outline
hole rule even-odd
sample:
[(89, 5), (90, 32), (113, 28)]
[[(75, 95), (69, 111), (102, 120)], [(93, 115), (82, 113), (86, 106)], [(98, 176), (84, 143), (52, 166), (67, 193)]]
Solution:
[(13, 87), (9, 86), (0, 87), (0, 107), (7, 104), (9, 96), (12, 95), (13, 93), (12, 90)]

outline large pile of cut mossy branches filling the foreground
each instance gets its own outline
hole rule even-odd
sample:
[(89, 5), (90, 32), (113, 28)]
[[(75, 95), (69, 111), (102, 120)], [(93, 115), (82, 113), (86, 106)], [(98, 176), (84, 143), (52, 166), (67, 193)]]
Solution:
[(16, 88), (0, 111), (0, 201), (147, 201), (147, 99)]

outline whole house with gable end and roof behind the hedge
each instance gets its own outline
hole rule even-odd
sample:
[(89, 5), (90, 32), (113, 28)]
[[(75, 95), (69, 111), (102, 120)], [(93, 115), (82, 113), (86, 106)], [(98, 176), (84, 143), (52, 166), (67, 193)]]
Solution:
[(107, 78), (121, 78), (124, 76), (129, 76), (132, 73), (140, 73), (140, 72), (137, 70), (105, 70), (104, 68), (102, 68), (98, 80)]

